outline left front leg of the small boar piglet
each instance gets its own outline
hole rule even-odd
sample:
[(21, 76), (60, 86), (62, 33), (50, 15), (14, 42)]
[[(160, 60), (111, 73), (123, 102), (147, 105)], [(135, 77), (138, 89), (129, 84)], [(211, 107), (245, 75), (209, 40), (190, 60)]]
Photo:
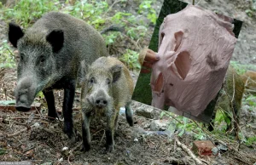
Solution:
[(90, 151), (90, 113), (83, 112), (82, 134), (83, 134), (83, 151)]

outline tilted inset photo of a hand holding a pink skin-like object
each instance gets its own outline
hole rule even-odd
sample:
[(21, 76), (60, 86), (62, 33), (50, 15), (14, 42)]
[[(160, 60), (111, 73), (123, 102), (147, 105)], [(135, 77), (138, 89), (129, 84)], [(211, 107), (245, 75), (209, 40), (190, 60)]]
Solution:
[[(233, 72), (229, 65), (241, 26), (239, 20), (196, 5), (165, 1), (149, 47), (140, 56), (142, 65), (152, 66), (152, 71), (141, 71), (132, 99), (210, 122), (221, 89), (234, 81), (228, 77)], [(152, 54), (158, 60), (151, 62)], [(240, 77), (236, 83), (241, 86), (235, 91), (240, 98), (235, 96), (234, 101), (239, 109)]]

